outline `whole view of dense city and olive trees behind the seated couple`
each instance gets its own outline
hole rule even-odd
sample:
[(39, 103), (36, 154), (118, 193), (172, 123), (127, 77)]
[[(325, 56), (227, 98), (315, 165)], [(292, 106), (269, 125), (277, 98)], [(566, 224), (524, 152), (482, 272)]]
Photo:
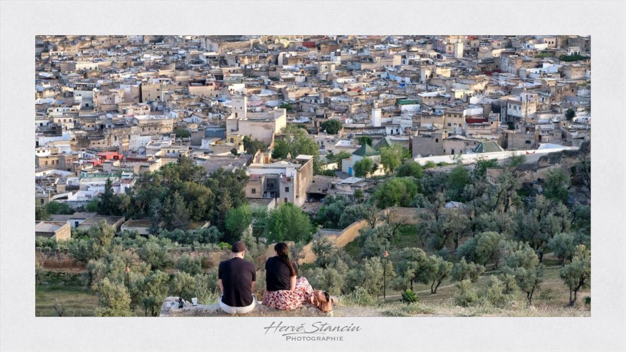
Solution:
[(590, 45), (38, 36), (36, 315), (215, 303), (240, 240), (334, 316), (589, 316)]

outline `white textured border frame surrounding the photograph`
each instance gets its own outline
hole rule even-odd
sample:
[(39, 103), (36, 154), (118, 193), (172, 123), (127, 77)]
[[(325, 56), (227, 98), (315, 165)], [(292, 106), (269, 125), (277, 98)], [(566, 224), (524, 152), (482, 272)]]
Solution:
[[(3, 1), (0, 5), (0, 349), (466, 351), (626, 349), (625, 18), (619, 1)], [(590, 34), (592, 290), (590, 318), (332, 318), (359, 324), (343, 342), (264, 336), (289, 318), (34, 316), (36, 34)], [(602, 138), (601, 138), (602, 137)], [(240, 331), (239, 336), (231, 333)], [(180, 336), (180, 337), (179, 337)], [(192, 337), (195, 336), (195, 337)]]

